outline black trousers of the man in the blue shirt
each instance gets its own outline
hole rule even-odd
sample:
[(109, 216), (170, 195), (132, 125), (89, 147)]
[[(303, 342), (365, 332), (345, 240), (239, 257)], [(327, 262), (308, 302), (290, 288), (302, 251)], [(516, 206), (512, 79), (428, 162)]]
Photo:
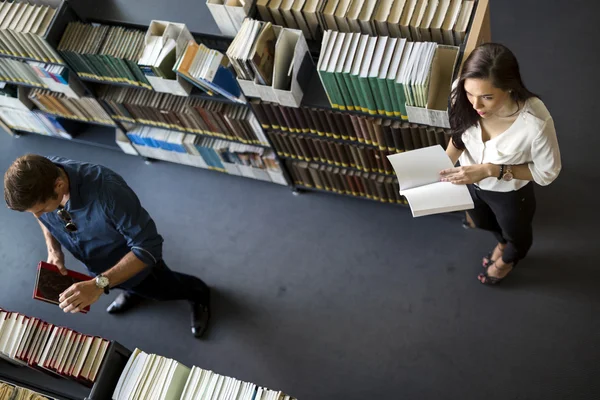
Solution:
[(210, 305), (210, 289), (206, 283), (195, 276), (171, 271), (162, 260), (152, 267), (152, 272), (142, 282), (120, 289), (151, 300), (188, 300)]

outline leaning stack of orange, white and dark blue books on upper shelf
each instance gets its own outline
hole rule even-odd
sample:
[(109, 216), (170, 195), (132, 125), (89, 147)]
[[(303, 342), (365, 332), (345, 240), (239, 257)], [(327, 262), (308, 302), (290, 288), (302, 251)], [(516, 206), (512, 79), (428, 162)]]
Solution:
[(222, 53), (190, 40), (173, 67), (178, 75), (208, 94), (218, 93), (236, 103), (246, 103), (229, 59)]

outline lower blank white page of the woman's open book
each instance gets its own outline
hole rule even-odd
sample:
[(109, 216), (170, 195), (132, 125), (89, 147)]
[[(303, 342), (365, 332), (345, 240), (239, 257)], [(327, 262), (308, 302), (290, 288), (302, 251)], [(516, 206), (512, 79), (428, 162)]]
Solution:
[(467, 187), (450, 182), (435, 182), (401, 190), (400, 194), (408, 200), (413, 217), (470, 210), (474, 207)]

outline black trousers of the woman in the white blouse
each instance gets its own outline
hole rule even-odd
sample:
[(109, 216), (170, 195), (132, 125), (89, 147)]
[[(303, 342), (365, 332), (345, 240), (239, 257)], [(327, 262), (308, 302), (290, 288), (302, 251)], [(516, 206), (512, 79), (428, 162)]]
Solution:
[(517, 263), (525, 258), (533, 244), (532, 222), (535, 214), (533, 182), (512, 192), (493, 192), (468, 185), (475, 208), (471, 219), (480, 229), (492, 232), (506, 244), (502, 260)]

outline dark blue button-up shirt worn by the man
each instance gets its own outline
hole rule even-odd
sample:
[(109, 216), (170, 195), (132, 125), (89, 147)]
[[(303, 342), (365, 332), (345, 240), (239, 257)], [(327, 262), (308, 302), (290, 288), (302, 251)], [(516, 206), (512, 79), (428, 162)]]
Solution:
[(125, 180), (101, 165), (48, 157), (69, 177), (70, 198), (65, 209), (76, 232), (68, 232), (57, 212), (45, 213), (40, 221), (52, 236), (93, 275), (114, 267), (132, 251), (148, 265), (120, 286), (131, 288), (151, 272), (162, 258), (163, 238)]

